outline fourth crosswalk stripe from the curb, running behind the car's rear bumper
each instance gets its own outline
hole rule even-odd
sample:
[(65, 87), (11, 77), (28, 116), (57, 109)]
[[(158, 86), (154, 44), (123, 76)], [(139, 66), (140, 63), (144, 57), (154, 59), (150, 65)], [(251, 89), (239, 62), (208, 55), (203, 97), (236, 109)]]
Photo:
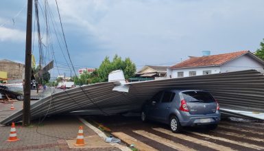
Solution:
[(221, 137), (214, 137), (214, 136), (211, 136), (211, 135), (205, 135), (205, 134), (202, 134), (202, 133), (199, 133), (199, 132), (191, 132), (191, 133), (193, 133), (195, 135), (200, 135), (202, 137), (207, 137), (207, 138), (211, 138), (211, 139), (217, 139), (219, 141), (225, 141), (225, 142), (228, 142), (228, 143), (234, 143), (234, 144), (237, 144), (239, 146), (246, 147), (246, 148), (253, 148), (253, 149), (256, 149), (256, 150), (264, 150), (264, 147), (256, 146), (256, 145), (250, 144), (250, 143), (243, 143), (241, 141), (232, 141), (230, 139), (224, 139), (224, 138), (221, 138)]

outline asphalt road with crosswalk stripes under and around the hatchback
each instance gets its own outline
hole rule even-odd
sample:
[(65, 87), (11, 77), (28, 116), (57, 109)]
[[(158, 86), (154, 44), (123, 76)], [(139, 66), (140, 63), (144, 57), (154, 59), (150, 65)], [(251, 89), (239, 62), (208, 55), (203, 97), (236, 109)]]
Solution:
[(264, 122), (222, 120), (216, 130), (205, 127), (184, 128), (174, 134), (169, 126), (153, 121), (143, 123), (140, 117), (86, 117), (111, 130), (127, 143), (141, 150), (264, 150)]

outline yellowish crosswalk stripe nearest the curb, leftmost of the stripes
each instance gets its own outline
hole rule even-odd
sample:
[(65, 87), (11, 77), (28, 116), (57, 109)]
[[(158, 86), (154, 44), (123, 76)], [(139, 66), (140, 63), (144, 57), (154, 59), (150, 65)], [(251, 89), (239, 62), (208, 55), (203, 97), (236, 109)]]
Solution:
[(142, 151), (157, 151), (155, 148), (152, 148), (151, 146), (148, 146), (142, 141), (134, 139), (133, 137), (130, 137), (129, 135), (126, 135), (123, 132), (112, 132), (112, 135), (114, 135), (115, 137), (118, 137), (122, 141), (125, 141), (125, 143), (134, 144), (136, 149), (139, 149)]

